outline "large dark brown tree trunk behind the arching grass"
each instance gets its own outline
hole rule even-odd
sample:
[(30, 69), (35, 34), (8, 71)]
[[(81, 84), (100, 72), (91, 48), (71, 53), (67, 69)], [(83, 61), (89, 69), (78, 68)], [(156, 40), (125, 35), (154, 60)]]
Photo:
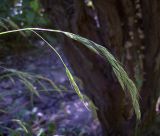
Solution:
[[(79, 34), (107, 47), (126, 66), (130, 77), (137, 81), (139, 89), (142, 88), (142, 124), (146, 120), (149, 123), (155, 116), (153, 106), (160, 81), (160, 64), (156, 61), (160, 56), (160, 2), (93, 0), (93, 5), (82, 0), (41, 2), (57, 29)], [(98, 107), (104, 135), (133, 135), (135, 116), (130, 97), (123, 93), (111, 67), (84, 46), (66, 38), (61, 41), (76, 75), (84, 83), (85, 93)], [(141, 78), (145, 79), (143, 85)]]

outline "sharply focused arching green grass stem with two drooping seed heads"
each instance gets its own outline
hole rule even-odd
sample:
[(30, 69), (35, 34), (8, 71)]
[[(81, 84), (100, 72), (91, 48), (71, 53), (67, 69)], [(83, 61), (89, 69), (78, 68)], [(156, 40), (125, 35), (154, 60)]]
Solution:
[(78, 96), (80, 97), (82, 102), (85, 101), (84, 95), (79, 90), (79, 88), (75, 82), (75, 79), (72, 76), (70, 70), (67, 68), (66, 64), (64, 63), (64, 61), (61, 58), (61, 56), (59, 55), (59, 53), (40, 34), (38, 34), (37, 31), (43, 31), (43, 32), (47, 31), (47, 32), (55, 32), (55, 33), (64, 34), (65, 36), (82, 43), (84, 46), (89, 48), (91, 51), (93, 51), (94, 53), (103, 57), (112, 66), (113, 72), (115, 73), (123, 90), (125, 92), (126, 91), (129, 92), (137, 119), (141, 118), (140, 107), (139, 107), (139, 102), (138, 102), (139, 101), (139, 94), (138, 94), (138, 90), (137, 90), (135, 84), (128, 77), (127, 73), (125, 72), (125, 70), (121, 66), (120, 62), (117, 59), (115, 59), (115, 57), (105, 47), (103, 47), (103, 46), (101, 46), (101, 45), (99, 45), (89, 39), (81, 37), (79, 35), (76, 35), (76, 34), (73, 34), (70, 32), (60, 31), (60, 30), (53, 30), (53, 29), (23, 28), (23, 29), (16, 29), (16, 30), (0, 32), (0, 35), (15, 33), (15, 32), (23, 32), (23, 31), (34, 32), (39, 38), (41, 38), (58, 55), (58, 57), (60, 58), (61, 62), (63, 63), (63, 65), (65, 67), (66, 74), (68, 76), (68, 79), (70, 80), (71, 85), (73, 86), (74, 90), (76, 91), (76, 93), (78, 94)]

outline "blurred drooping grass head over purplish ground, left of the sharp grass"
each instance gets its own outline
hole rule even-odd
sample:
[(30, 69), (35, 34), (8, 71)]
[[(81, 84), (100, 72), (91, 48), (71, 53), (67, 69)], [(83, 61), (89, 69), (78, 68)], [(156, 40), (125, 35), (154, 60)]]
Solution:
[[(33, 95), (40, 97), (39, 92), (36, 87), (38, 85), (43, 91), (47, 91), (47, 87), (45, 86), (44, 82), (49, 83), (51, 87), (53, 88), (53, 91), (58, 91), (61, 93), (61, 89), (49, 78), (46, 78), (41, 75), (35, 75), (35, 74), (23, 72), (23, 71), (18, 71), (15, 69), (4, 68), (2, 66), (0, 66), (0, 68), (3, 68), (4, 70), (3, 72), (0, 73), (1, 81), (3, 79), (8, 78), (12, 81), (12, 83), (14, 83), (15, 80), (18, 79), (21, 83), (23, 83), (26, 86), (26, 88), (28, 88), (31, 94), (31, 98), (33, 97)], [(15, 77), (18, 77), (18, 78), (15, 78)], [(36, 83), (36, 86), (34, 86), (35, 83)], [(0, 97), (3, 98), (3, 95), (1, 93), (0, 93)]]

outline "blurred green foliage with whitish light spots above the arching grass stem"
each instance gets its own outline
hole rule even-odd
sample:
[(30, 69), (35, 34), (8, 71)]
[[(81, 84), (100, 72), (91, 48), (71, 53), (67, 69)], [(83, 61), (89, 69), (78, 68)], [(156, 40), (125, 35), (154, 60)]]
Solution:
[(44, 26), (49, 23), (39, 0), (0, 0), (1, 19), (12, 20), (18, 26)]

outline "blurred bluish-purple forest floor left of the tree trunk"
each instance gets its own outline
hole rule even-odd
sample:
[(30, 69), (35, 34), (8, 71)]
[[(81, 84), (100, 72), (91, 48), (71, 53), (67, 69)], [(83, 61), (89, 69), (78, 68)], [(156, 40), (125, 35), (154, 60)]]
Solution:
[[(56, 49), (61, 52), (58, 46)], [(65, 59), (63, 54), (62, 57)], [(66, 59), (65, 62), (69, 67)], [(7, 54), (7, 57), (0, 60), (0, 66), (41, 75), (52, 80), (52, 83), (62, 91), (57, 92), (56, 88), (46, 82), (42, 82), (45, 87), (42, 87), (42, 84), (40, 87), (36, 81), (31, 80), (34, 89), (40, 94), (38, 97), (17, 77), (9, 75), (0, 79), (0, 133), (3, 133), (2, 136), (9, 135), (8, 133), (12, 130), (25, 131), (23, 125), (35, 135), (43, 132), (46, 136), (101, 135), (97, 118), (75, 94), (62, 63), (51, 49), (41, 45), (18, 55)], [(0, 68), (0, 77), (4, 73), (6, 71)], [(76, 79), (83, 90), (81, 80)]]

